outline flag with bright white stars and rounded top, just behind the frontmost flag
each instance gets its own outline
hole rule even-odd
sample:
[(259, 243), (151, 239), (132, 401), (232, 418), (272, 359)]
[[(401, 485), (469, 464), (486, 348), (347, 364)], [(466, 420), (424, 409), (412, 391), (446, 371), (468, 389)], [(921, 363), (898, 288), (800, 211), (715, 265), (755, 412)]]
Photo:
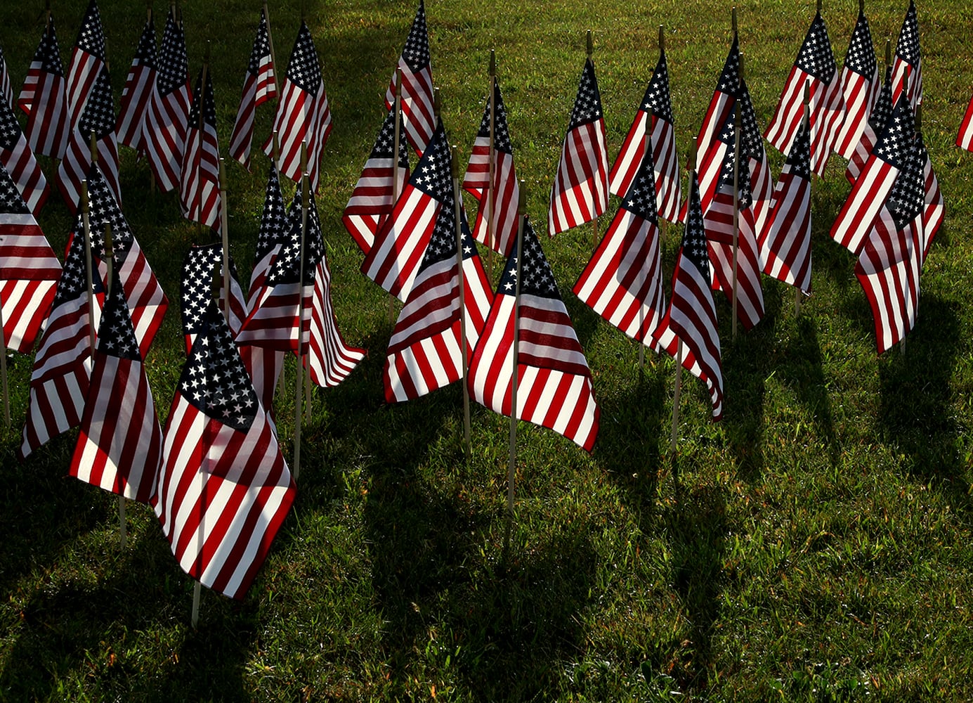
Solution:
[[(186, 338), (186, 353), (193, 349), (193, 343), (202, 327), (203, 318), (209, 301), (213, 298), (213, 277), (218, 277), (220, 288), (219, 307), (226, 310), (227, 294), (223, 287), (223, 246), (222, 244), (203, 244), (191, 246), (183, 259), (183, 273), (179, 299), (182, 301), (183, 336)], [(236, 266), (230, 257), (230, 331), (236, 336), (246, 317), (246, 299), (236, 277)]]

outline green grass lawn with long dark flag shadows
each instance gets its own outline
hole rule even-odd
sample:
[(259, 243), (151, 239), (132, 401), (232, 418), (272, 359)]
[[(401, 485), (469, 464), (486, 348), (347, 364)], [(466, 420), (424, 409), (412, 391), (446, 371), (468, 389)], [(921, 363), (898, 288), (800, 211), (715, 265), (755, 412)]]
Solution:
[[(85, 4), (54, 2), (65, 61)], [(270, 4), (282, 72), (301, 3)], [(825, 3), (839, 65), (857, 5)], [(118, 97), (144, 6), (100, 6)], [(973, 155), (953, 145), (973, 87), (971, 6), (919, 0), (924, 134), (947, 219), (904, 351), (876, 357), (854, 260), (827, 236), (848, 192), (835, 157), (814, 185), (813, 296), (795, 317), (791, 289), (765, 278), (767, 317), (736, 342), (719, 301), (725, 419), (709, 422), (708, 396), (687, 375), (672, 460), (673, 363), (649, 352), (639, 369), (636, 345), (569, 293), (591, 253), (589, 228), (545, 241), (592, 367), (601, 429), (588, 455), (520, 426), (507, 560), (508, 421), (474, 407), (465, 462), (459, 388), (384, 404), (387, 296), (359, 273), (341, 224), (414, 3), (306, 6), (334, 115), (318, 206), (335, 304), (345, 339), (370, 355), (339, 388), (315, 391), (294, 509), (246, 599), (204, 592), (197, 629), (193, 582), (151, 509), (129, 503), (120, 550), (114, 497), (65, 475), (75, 433), (17, 462), (32, 358), (12, 357), (14, 423), (0, 434), (0, 700), (973, 699)], [(224, 149), (259, 7), (183, 3), (194, 80), (211, 42)], [(894, 42), (906, 8), (868, 3), (877, 42)], [(41, 9), (0, 10), (18, 87)], [(461, 163), (496, 49), (515, 163), (541, 224), (586, 29), (612, 158), (655, 65), (659, 24), (683, 154), (731, 41), (730, 5), (703, 0), (430, 0), (426, 10)], [(806, 0), (739, 3), (762, 128), (813, 12)], [(156, 26), (161, 34), (162, 17)], [(265, 109), (258, 139), (269, 125)], [(772, 160), (776, 172), (782, 158)], [(261, 155), (254, 163), (253, 174), (228, 165), (244, 277), (267, 168)], [(126, 214), (170, 298), (147, 360), (164, 415), (184, 357), (181, 261), (213, 236), (181, 219), (174, 194), (152, 195), (147, 166), (127, 150), (122, 179)], [(55, 193), (41, 223), (62, 251), (70, 220)], [(672, 228), (664, 243), (667, 281), (680, 234)], [(277, 410), (289, 456), (292, 393)]]

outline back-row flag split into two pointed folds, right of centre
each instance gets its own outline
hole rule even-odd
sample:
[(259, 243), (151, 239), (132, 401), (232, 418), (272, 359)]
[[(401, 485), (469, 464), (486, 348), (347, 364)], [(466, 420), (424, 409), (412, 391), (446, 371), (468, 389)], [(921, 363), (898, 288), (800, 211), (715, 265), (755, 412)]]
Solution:
[(675, 121), (672, 118), (672, 100), (669, 96), (668, 63), (666, 51), (659, 53), (659, 62), (652, 74), (642, 102), (635, 112), (622, 151), (609, 175), (610, 190), (624, 198), (631, 182), (638, 174), (645, 153), (645, 121), (652, 120), (652, 163), (655, 165), (656, 211), (659, 217), (672, 222), (679, 221), (682, 204), (682, 185), (679, 181), (679, 156), (675, 150)]

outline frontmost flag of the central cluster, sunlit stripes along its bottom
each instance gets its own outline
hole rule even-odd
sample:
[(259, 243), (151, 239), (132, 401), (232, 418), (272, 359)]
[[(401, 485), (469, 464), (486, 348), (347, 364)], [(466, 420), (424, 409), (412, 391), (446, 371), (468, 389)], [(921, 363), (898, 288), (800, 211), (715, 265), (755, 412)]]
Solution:
[(511, 415), (518, 309), (517, 419), (553, 429), (590, 452), (599, 417), (592, 374), (529, 221), (523, 227), (520, 301), (518, 257), (515, 244), (470, 359), (470, 394), (490, 410)]

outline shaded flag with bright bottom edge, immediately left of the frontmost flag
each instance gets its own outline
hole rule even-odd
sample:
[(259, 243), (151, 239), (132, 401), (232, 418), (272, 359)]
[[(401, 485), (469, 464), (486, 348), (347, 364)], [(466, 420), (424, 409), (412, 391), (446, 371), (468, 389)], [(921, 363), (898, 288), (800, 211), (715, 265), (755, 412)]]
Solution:
[(162, 462), (162, 428), (118, 276), (105, 299), (72, 476), (148, 502)]

